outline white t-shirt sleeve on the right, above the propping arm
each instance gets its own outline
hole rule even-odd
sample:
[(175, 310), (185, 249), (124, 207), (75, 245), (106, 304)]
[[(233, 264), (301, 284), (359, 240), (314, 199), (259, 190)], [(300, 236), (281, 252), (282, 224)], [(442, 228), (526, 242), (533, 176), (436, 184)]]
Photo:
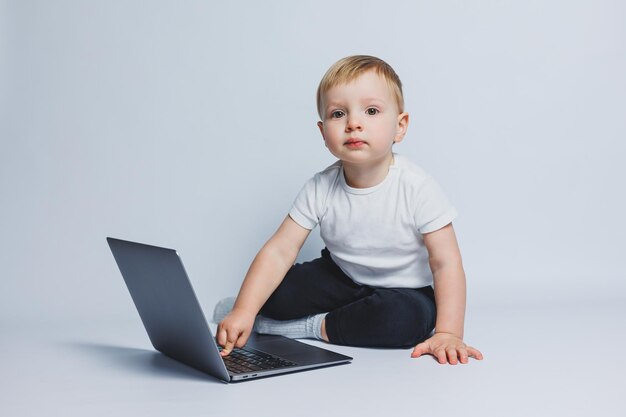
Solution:
[(458, 215), (439, 184), (428, 177), (417, 193), (415, 225), (420, 233), (430, 233), (447, 226)]

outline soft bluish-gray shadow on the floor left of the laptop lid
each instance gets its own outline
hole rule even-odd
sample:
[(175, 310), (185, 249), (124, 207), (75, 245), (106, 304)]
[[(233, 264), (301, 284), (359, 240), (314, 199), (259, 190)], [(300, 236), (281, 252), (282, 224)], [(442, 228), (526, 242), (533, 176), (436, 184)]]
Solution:
[(203, 382), (223, 383), (210, 375), (154, 350), (91, 342), (71, 342), (69, 345), (124, 372), (137, 372), (163, 378), (194, 379)]

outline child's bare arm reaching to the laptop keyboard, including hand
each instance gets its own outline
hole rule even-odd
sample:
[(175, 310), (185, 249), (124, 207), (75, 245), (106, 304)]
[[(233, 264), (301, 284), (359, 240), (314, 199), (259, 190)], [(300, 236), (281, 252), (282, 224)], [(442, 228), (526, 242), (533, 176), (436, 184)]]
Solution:
[(294, 264), (310, 232), (287, 216), (261, 248), (241, 284), (233, 310), (218, 325), (222, 356), (246, 344), (256, 315)]

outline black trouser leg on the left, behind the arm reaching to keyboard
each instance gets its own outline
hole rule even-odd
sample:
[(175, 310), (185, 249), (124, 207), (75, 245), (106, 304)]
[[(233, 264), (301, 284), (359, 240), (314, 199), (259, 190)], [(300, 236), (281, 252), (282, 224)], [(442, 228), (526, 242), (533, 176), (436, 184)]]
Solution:
[(274, 320), (294, 320), (327, 313), (373, 292), (352, 281), (333, 262), (327, 249), (322, 257), (291, 267), (259, 314)]

